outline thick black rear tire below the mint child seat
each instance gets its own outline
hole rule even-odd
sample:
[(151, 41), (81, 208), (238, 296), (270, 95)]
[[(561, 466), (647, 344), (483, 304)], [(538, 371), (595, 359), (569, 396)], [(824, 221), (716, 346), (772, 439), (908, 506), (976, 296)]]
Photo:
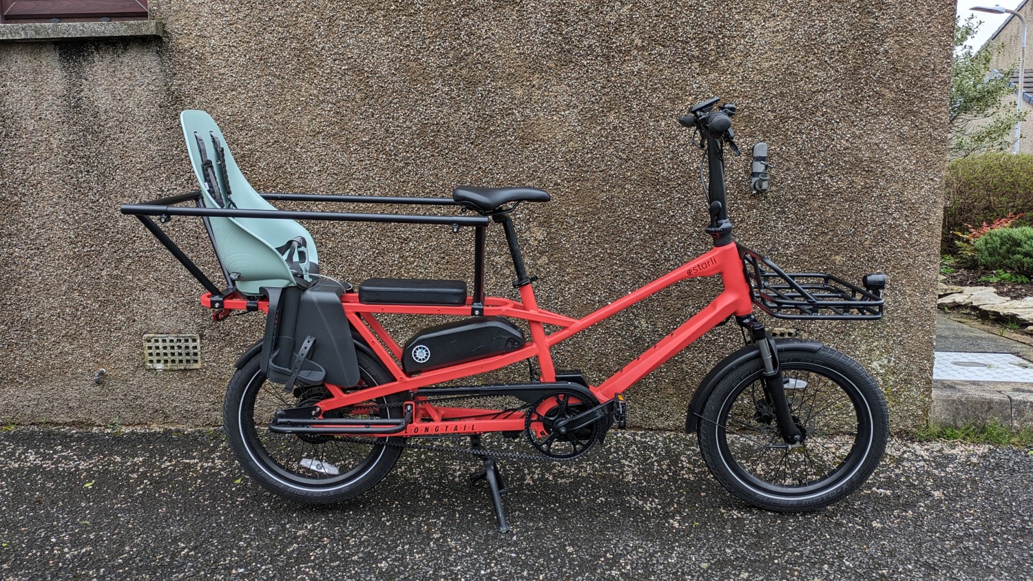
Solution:
[[(359, 376), (368, 386), (392, 381), (390, 375), (379, 361), (361, 350), (357, 350), (355, 355)], [(248, 476), (279, 496), (307, 505), (348, 501), (368, 491), (387, 476), (402, 453), (400, 445), (404, 442), (403, 438), (388, 438), (385, 443), (387, 445), (370, 445), (369, 454), (358, 460), (354, 467), (339, 478), (326, 481), (306, 478), (304, 475), (292, 473), (292, 466), (278, 463), (262, 446), (261, 438), (277, 440), (298, 437), (270, 432), (264, 423), (272, 418), (262, 417), (257, 420), (256, 425), (253, 407), (262, 386), (265, 389), (282, 391), (281, 386), (265, 380), (259, 368), (260, 357), (260, 353), (255, 354), (233, 374), (223, 401), (226, 440), (233, 456)], [(291, 398), (290, 394), (284, 393), (283, 396)], [(377, 404), (389, 406), (385, 408), (386, 417), (399, 418), (402, 415), (401, 401), (400, 396), (392, 395), (380, 398)]]

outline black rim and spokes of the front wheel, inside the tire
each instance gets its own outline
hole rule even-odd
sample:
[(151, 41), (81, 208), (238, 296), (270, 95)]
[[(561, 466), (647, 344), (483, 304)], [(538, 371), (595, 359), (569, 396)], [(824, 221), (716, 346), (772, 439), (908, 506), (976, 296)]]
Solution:
[(864, 462), (872, 444), (871, 411), (860, 390), (841, 374), (817, 364), (784, 363), (786, 397), (803, 446), (782, 440), (764, 401), (760, 372), (725, 399), (717, 442), (732, 475), (751, 488), (779, 496), (827, 492)]

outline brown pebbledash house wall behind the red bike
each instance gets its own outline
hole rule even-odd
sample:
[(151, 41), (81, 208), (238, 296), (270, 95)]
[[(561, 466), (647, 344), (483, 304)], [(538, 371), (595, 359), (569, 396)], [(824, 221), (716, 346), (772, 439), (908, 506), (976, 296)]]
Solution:
[[(580, 317), (710, 248), (698, 152), (676, 119), (720, 96), (740, 107), (743, 151), (765, 140), (774, 163), (754, 196), (748, 159), (726, 154), (741, 243), (787, 269), (890, 281), (881, 322), (769, 322), (862, 361), (895, 429), (925, 421), (952, 5), (180, 0), (152, 1), (151, 18), (162, 38), (0, 44), (0, 420), (221, 423), (261, 317), (214, 323), (196, 282), (117, 208), (196, 187), (183, 109), (212, 114), (259, 191), (547, 190), (516, 213), (521, 240), (539, 303)], [(307, 225), (325, 271), (353, 284), (472, 275), (471, 231)], [(166, 230), (217, 275), (197, 222)], [(489, 244), (489, 290), (515, 296), (501, 232)], [(557, 363), (599, 382), (716, 289), (665, 291)], [(684, 426), (700, 378), (742, 344), (733, 327), (635, 385), (631, 423)], [(146, 370), (145, 333), (199, 333), (204, 368)]]

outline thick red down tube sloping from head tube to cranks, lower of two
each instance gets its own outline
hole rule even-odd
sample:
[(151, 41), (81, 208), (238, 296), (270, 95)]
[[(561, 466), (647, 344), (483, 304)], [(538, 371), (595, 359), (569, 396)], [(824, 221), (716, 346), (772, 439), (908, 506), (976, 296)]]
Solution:
[(649, 348), (649, 351), (639, 355), (634, 361), (625, 365), (623, 369), (614, 374), (592, 391), (595, 392), (599, 401), (613, 399), (616, 394), (623, 392), (631, 384), (662, 365), (667, 359), (680, 353), (721, 321), (733, 315), (735, 301), (737, 299), (731, 293), (722, 292), (702, 311), (682, 323), (682, 326), (675, 329), (675, 332), (663, 337), (659, 343)]

